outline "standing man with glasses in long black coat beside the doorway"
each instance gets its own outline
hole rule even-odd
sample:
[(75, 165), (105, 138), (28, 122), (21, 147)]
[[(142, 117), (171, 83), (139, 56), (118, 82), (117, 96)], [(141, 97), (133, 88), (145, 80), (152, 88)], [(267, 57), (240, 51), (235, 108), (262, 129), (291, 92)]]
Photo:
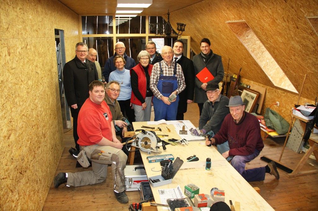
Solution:
[(89, 97), (88, 85), (93, 80), (98, 80), (95, 64), (86, 59), (88, 48), (84, 42), (75, 46), (75, 58), (67, 62), (63, 68), (64, 93), (67, 104), (70, 106), (73, 117), (73, 137), (76, 150), (72, 147), (69, 152), (77, 156), (79, 145), (77, 140), (77, 117), (79, 110)]

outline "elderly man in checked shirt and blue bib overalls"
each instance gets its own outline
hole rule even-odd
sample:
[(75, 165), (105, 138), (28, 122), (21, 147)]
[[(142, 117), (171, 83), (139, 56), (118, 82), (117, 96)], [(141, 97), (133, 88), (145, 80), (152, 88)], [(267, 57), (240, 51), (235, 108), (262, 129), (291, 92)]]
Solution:
[[(176, 120), (179, 96), (185, 88), (182, 68), (172, 61), (173, 51), (169, 46), (164, 46), (161, 51), (163, 61), (154, 65), (150, 76), (150, 89), (154, 93), (153, 99), (155, 121)], [(176, 99), (169, 101), (175, 94)]]

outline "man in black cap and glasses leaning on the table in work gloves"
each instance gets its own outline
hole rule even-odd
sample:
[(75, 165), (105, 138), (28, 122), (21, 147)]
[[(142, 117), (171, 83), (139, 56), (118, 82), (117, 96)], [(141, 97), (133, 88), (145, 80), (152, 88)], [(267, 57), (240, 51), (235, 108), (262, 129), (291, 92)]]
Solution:
[[(206, 96), (208, 97), (205, 101), (202, 109), (202, 114), (199, 119), (199, 130), (191, 131), (195, 135), (210, 134), (211, 137), (220, 130), (223, 120), (227, 114), (230, 113), (229, 99), (220, 94), (219, 86), (217, 83), (209, 83), (205, 89)], [(230, 149), (229, 143), (226, 141), (223, 144), (217, 145), (219, 153), (224, 153)], [(232, 157), (228, 157), (227, 160), (230, 161)]]

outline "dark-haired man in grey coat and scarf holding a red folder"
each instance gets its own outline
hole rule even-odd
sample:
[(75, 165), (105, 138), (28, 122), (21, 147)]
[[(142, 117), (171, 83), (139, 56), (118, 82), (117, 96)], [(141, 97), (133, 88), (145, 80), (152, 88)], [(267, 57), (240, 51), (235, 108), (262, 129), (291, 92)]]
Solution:
[(211, 42), (207, 38), (203, 38), (200, 42), (201, 53), (193, 57), (194, 74), (197, 75), (201, 70), (206, 67), (210, 73), (214, 76), (214, 79), (203, 83), (197, 77), (195, 77), (195, 88), (194, 88), (194, 102), (198, 104), (200, 116), (204, 102), (207, 100), (206, 94), (204, 93), (208, 83), (214, 82), (219, 83), (223, 80), (224, 69), (222, 64), (222, 57), (214, 54), (211, 50)]

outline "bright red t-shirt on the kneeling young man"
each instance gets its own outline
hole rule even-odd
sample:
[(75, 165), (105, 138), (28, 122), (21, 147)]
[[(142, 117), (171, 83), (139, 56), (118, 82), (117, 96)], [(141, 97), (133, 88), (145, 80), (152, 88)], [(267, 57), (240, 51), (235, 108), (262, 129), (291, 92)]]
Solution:
[(91, 99), (86, 99), (79, 111), (77, 121), (77, 143), (81, 146), (89, 146), (99, 143), (103, 137), (112, 141), (112, 114), (105, 101), (100, 105)]

